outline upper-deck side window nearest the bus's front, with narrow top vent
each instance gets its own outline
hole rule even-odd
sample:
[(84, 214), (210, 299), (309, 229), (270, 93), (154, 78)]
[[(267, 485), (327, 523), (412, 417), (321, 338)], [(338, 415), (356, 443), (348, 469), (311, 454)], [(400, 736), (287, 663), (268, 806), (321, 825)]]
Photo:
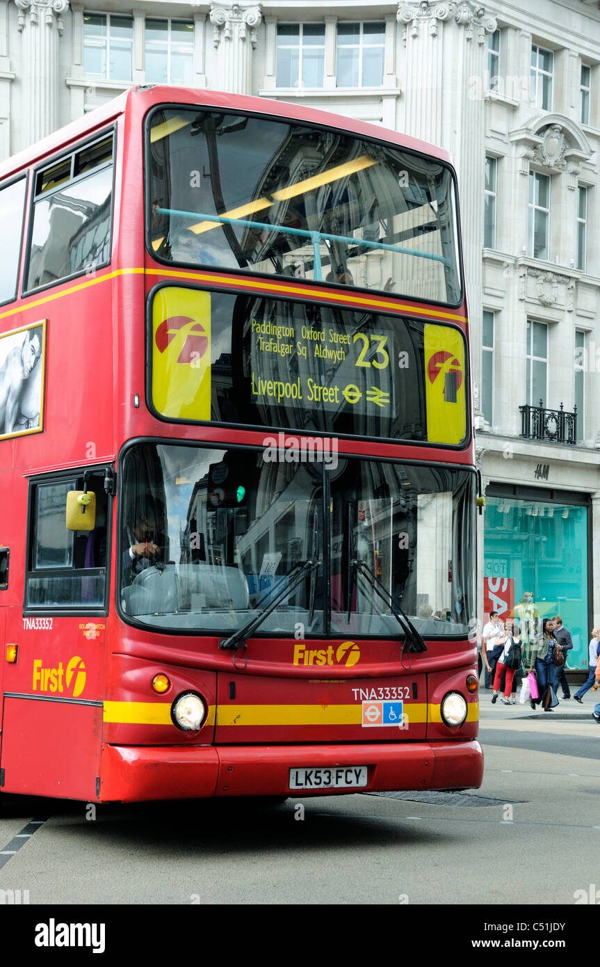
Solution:
[(25, 291), (110, 261), (113, 141), (103, 134), (36, 171)]

